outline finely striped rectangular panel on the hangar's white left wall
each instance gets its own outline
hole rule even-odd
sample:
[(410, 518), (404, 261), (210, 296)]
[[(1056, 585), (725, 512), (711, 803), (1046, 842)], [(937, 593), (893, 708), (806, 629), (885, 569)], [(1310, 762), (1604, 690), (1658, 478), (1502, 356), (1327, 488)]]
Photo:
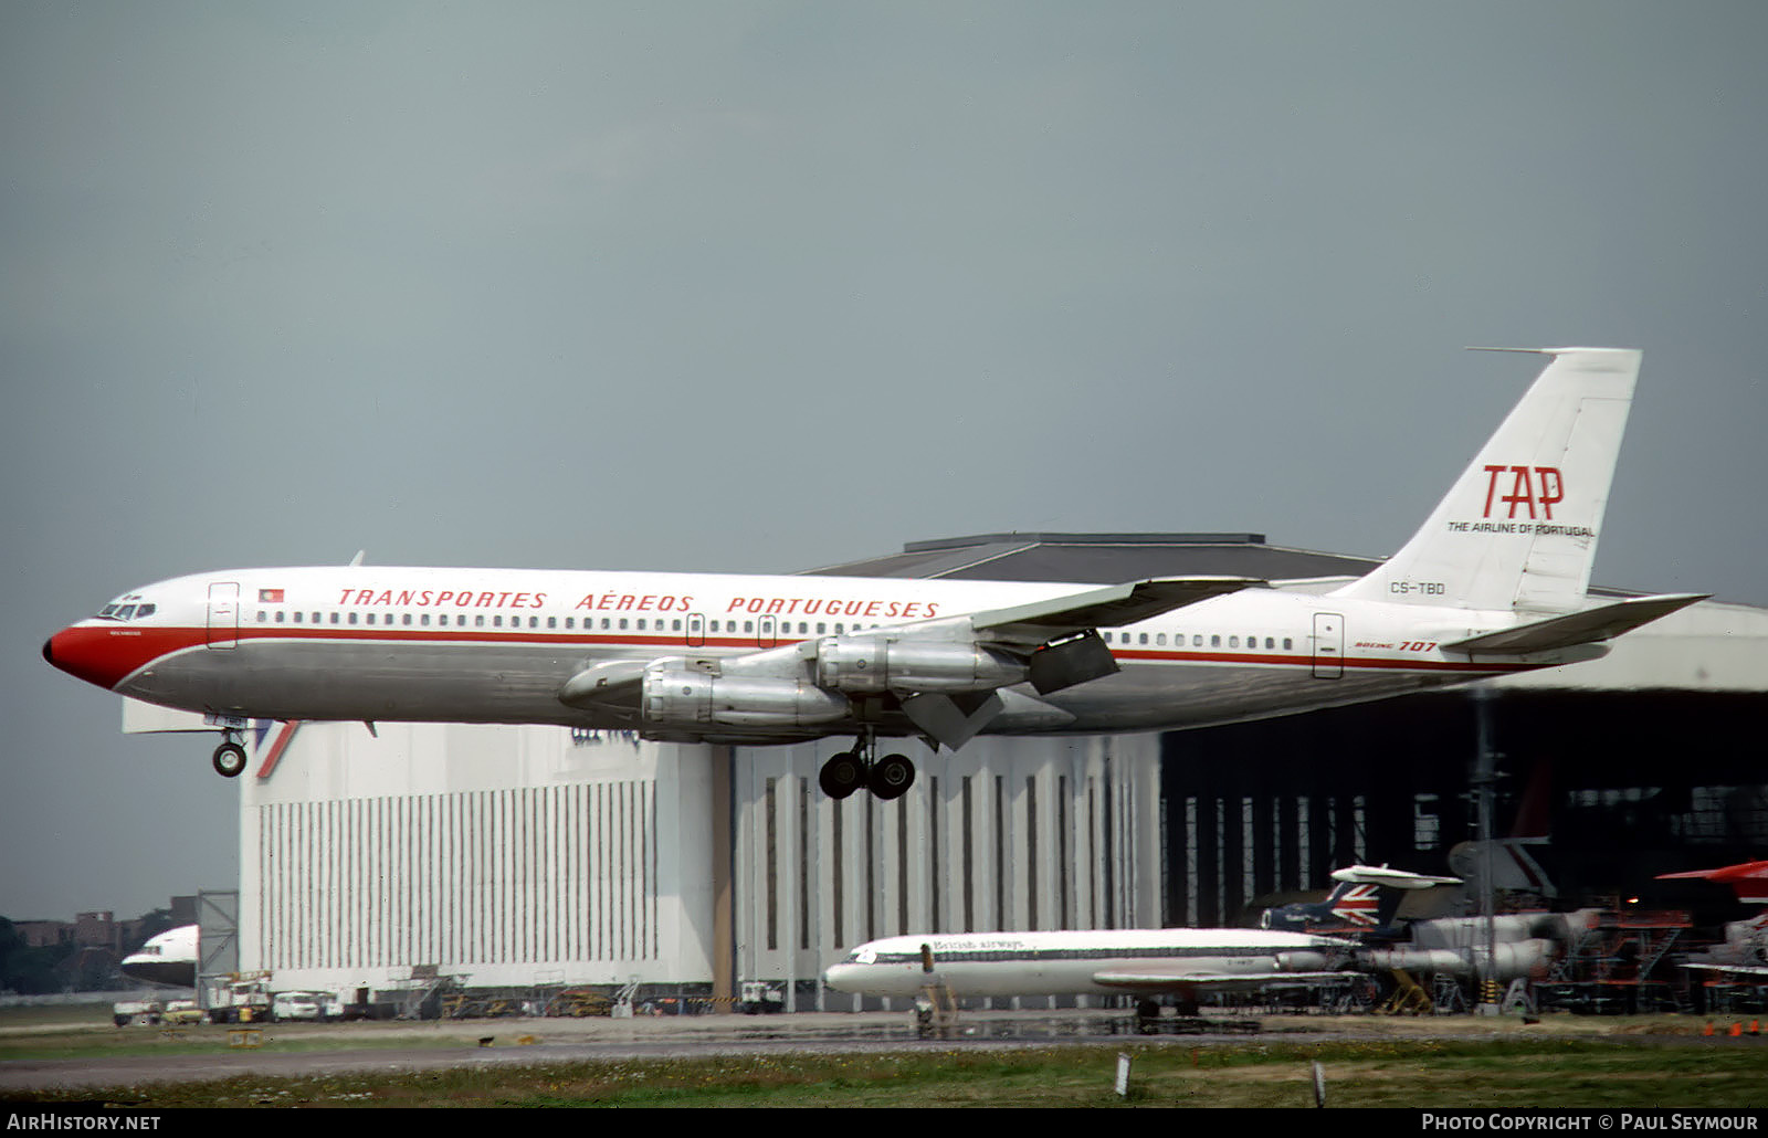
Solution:
[(661, 956), (645, 781), (271, 802), (256, 822), (258, 960), (271, 968)]

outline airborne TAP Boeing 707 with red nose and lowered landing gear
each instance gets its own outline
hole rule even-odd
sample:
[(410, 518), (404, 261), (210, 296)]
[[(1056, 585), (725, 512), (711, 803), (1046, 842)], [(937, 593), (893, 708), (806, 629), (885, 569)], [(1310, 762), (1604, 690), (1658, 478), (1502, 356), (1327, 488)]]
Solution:
[(1413, 539), (1324, 596), (1239, 576), (1112, 587), (370, 565), (129, 590), (42, 647), (99, 687), (249, 719), (557, 723), (645, 739), (850, 735), (826, 793), (914, 781), (879, 739), (1193, 728), (1602, 656), (1696, 594), (1593, 603), (1639, 352), (1545, 369)]

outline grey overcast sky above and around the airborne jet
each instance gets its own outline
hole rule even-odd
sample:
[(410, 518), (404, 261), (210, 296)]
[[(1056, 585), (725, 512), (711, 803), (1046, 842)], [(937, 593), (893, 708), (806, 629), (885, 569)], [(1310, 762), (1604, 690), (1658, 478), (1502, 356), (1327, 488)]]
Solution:
[(1646, 352), (1597, 581), (1768, 604), (1768, 5), (9, 0), (0, 914), (237, 878), (42, 640), (202, 569), (1395, 550)]

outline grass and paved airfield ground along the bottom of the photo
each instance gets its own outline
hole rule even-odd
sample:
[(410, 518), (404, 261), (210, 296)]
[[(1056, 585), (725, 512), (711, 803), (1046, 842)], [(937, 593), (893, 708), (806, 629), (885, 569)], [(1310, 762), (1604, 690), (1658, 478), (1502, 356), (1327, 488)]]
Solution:
[[(1750, 1020), (1262, 1016), (1146, 1039), (1123, 1013), (976, 1013), (919, 1039), (902, 1013), (111, 1027), (0, 1013), (0, 1099), (168, 1106), (1768, 1106)], [(1740, 1036), (1729, 1028), (1738, 1023)], [(255, 1043), (256, 1046), (233, 1046)], [(1132, 1094), (1112, 1092), (1130, 1055)]]

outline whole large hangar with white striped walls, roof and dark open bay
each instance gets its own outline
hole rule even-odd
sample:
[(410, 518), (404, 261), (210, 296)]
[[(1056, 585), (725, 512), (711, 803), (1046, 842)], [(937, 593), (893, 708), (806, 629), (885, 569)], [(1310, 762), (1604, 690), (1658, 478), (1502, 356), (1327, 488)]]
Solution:
[[(1255, 534), (1004, 534), (813, 573), (1243, 574), (1328, 592), (1374, 564)], [(819, 975), (865, 940), (1239, 924), (1255, 898), (1324, 889), (1337, 866), (1444, 873), (1473, 836), (1482, 703), (1510, 776), (1499, 832), (1545, 779), (1551, 843), (1535, 857), (1565, 908), (1768, 845), (1768, 610), (1706, 601), (1605, 659), (1483, 686), (1190, 732), (979, 737), (939, 756), (916, 742), (919, 778), (893, 802), (820, 793), (845, 739), (262, 725), (240, 779), (237, 908), (205, 907), (203, 972), (271, 970), (278, 990), (410, 993), (440, 975), (713, 998), (771, 981), (787, 1009), (852, 1009)], [(179, 716), (126, 702), (124, 726), (189, 730)]]

